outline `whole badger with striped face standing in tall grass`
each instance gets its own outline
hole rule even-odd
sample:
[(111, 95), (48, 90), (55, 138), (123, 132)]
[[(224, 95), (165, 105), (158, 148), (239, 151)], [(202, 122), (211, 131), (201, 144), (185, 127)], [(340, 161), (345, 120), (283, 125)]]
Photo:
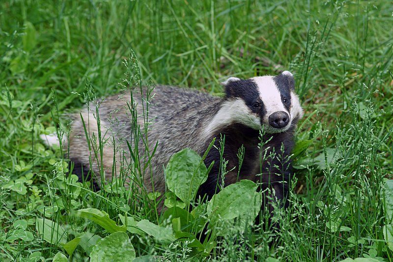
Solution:
[[(130, 111), (141, 114), (148, 108), (151, 119), (146, 129), (148, 139), (139, 142), (138, 152), (143, 155), (146, 144), (147, 148), (155, 150), (149, 159), (149, 172), (143, 177), (142, 186), (147, 192), (165, 193), (164, 167), (174, 153), (191, 148), (203, 155), (216, 138), (204, 160), (207, 167), (213, 161), (214, 165), (198, 195), (211, 197), (219, 190), (218, 184), (227, 186), (240, 179), (250, 179), (259, 183), (260, 190), (269, 189), (266, 194), (271, 196), (266, 198), (265, 204), (270, 211), (273, 210), (272, 201), (286, 206), (291, 173), (289, 156), (294, 146), (296, 124), (303, 116), (292, 73), (284, 71), (277, 76), (250, 79), (229, 77), (222, 85), (223, 97), (158, 85), (154, 87), (150, 101), (144, 99), (147, 91), (142, 89), (110, 96), (99, 104), (98, 110), (84, 108), (74, 117), (65, 143), (69, 147), (69, 160), (74, 163), (73, 173), (81, 178), (83, 174), (95, 174), (96, 185), (103, 184), (97, 175), (100, 172), (109, 181), (118, 176), (121, 163), (126, 165), (124, 163), (130, 158), (125, 153), (129, 152), (130, 146), (126, 141), (132, 140), (133, 128), (136, 124), (146, 125), (145, 117), (141, 115), (137, 122), (130, 121)], [(135, 109), (127, 103), (130, 95), (135, 101)], [(86, 134), (96, 139), (86, 138)], [(92, 156), (94, 145), (91, 144), (98, 143), (98, 137), (105, 145), (100, 148), (99, 156)], [(223, 137), (225, 145), (221, 156), (219, 149)], [(55, 143), (54, 137), (44, 139), (49, 144)], [(241, 147), (244, 151), (239, 171)], [(262, 160), (261, 156), (264, 156)], [(218, 175), (220, 157), (227, 161), (228, 172), (224, 178)]]

